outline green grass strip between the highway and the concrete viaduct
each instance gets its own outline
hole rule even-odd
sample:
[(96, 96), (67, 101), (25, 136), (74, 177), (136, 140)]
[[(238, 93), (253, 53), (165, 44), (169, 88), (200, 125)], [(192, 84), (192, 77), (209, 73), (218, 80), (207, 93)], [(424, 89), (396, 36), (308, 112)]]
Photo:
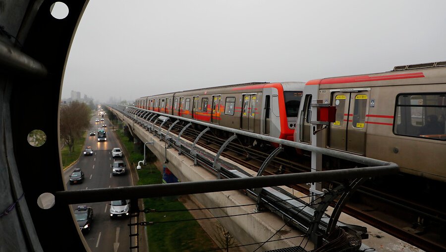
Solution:
[[(126, 149), (128, 160), (133, 164), (143, 160), (143, 154), (139, 153), (122, 130), (116, 130), (123, 148)], [(153, 155), (153, 154), (152, 154)], [(146, 160), (153, 160), (146, 151)], [(155, 160), (153, 160), (155, 161)], [(138, 185), (161, 184), (162, 173), (153, 164), (149, 163), (138, 170)], [(170, 212), (146, 213), (146, 221), (153, 221), (154, 225), (147, 226), (147, 237), (150, 252), (177, 252), (177, 251), (203, 251), (215, 249), (208, 234), (201, 228), (194, 217), (178, 201), (178, 197), (161, 197), (144, 199), (144, 206), (150, 209), (181, 210)], [(183, 221), (190, 220), (190, 221)], [(163, 223), (163, 221), (172, 221)]]

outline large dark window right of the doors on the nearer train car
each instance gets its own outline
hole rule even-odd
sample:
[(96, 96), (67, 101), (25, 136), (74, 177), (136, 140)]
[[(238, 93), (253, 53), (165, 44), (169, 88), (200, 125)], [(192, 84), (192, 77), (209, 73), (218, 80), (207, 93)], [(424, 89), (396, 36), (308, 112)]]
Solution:
[(396, 97), (393, 133), (446, 140), (446, 93), (400, 94)]

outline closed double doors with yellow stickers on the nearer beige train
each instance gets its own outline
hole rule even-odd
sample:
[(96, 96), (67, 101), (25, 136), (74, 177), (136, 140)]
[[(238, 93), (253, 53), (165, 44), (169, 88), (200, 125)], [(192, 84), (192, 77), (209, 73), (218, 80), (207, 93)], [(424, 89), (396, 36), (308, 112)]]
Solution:
[(334, 149), (365, 154), (366, 114), (370, 89), (332, 93), (336, 106), (335, 123), (330, 124), (329, 146)]

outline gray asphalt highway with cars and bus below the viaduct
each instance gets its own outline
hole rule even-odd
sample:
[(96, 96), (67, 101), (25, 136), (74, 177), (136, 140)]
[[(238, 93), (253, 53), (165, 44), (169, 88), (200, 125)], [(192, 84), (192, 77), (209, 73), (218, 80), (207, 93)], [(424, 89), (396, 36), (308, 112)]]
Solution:
[[(126, 174), (113, 176), (112, 175), (112, 163), (111, 149), (114, 147), (121, 147), (119, 142), (112, 133), (111, 127), (106, 127), (107, 141), (98, 142), (97, 130), (98, 127), (102, 127), (102, 124), (110, 125), (110, 121), (104, 118), (104, 122), (95, 122), (99, 116), (91, 118), (90, 129), (88, 130), (84, 148), (91, 146), (93, 149), (92, 156), (80, 156), (79, 160), (64, 171), (64, 181), (67, 190), (81, 190), (81, 189), (93, 189), (93, 188), (110, 188), (118, 186), (132, 185), (131, 174), (126, 167)], [(90, 130), (95, 130), (96, 135), (90, 136)], [(128, 164), (125, 155), (123, 157), (125, 164)], [(83, 183), (70, 185), (69, 175), (74, 168), (81, 168), (85, 173), (85, 179)], [(110, 218), (110, 202), (97, 202), (87, 205), (94, 211), (94, 221), (90, 233), (84, 234), (85, 241), (87, 242), (92, 252), (128, 252), (130, 247), (129, 238), (129, 218)], [(74, 209), (78, 205), (72, 205)], [(133, 244), (134, 245), (134, 244)]]

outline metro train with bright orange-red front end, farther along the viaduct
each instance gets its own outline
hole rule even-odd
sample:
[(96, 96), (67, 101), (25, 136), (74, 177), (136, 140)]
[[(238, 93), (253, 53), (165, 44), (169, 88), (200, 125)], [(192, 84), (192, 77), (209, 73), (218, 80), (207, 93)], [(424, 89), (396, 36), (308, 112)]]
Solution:
[[(293, 140), (303, 82), (247, 83), (145, 96), (136, 107)], [(244, 144), (260, 142), (242, 138)]]

